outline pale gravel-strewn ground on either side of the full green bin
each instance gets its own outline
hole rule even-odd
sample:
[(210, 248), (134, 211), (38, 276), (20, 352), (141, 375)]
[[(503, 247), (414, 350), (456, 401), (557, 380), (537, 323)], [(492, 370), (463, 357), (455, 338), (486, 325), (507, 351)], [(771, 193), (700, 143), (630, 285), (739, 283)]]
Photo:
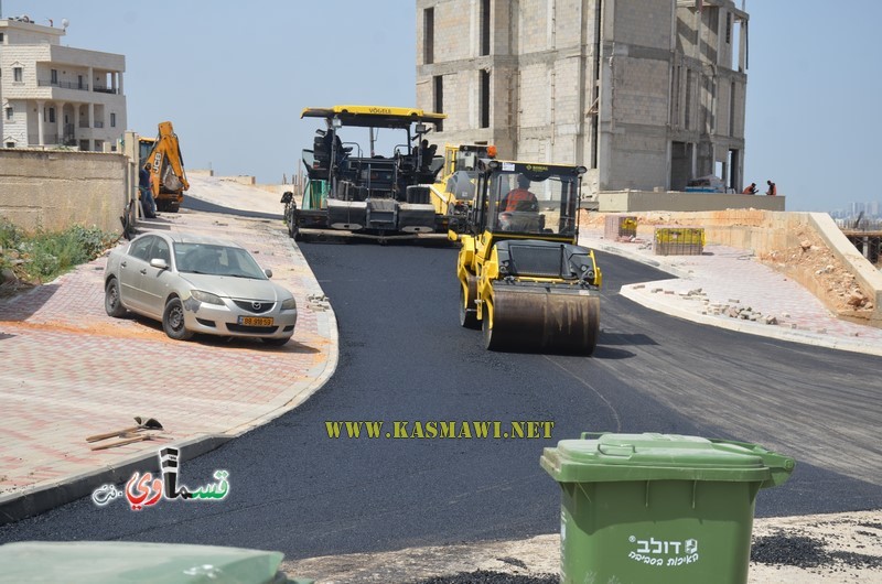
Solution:
[[(283, 564), (291, 577), (332, 584), (551, 584), (559, 537), (410, 548)], [(756, 519), (750, 584), (882, 584), (882, 510)]]

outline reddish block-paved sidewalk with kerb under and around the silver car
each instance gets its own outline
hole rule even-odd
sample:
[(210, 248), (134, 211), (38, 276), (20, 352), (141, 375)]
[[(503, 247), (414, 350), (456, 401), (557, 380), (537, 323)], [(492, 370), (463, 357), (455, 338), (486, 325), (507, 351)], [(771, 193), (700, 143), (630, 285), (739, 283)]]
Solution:
[[(212, 185), (205, 186), (206, 195)], [(229, 198), (246, 210), (281, 212), (279, 196), (256, 188)], [(238, 199), (238, 203), (233, 201)], [(223, 197), (214, 197), (223, 204)], [(159, 323), (116, 320), (104, 310), (106, 255), (56, 281), (0, 302), (0, 523), (125, 482), (160, 444), (191, 458), (303, 402), (333, 374), (334, 314), (280, 220), (163, 213), (139, 230), (230, 238), (247, 247), (298, 301), (293, 338), (200, 337), (174, 342)], [(121, 244), (120, 244), (121, 245)], [(154, 418), (162, 442), (92, 451), (85, 437)]]

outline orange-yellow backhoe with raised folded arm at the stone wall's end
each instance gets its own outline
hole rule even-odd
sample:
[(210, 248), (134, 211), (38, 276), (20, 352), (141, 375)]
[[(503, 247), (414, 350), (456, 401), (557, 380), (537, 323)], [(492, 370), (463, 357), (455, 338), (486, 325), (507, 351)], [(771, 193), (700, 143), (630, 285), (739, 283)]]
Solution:
[(141, 137), (139, 149), (141, 162), (139, 170), (143, 169), (144, 164), (150, 164), (150, 185), (153, 190), (153, 201), (157, 202), (157, 210), (178, 213), (184, 201), (184, 191), (190, 188), (190, 183), (186, 180), (184, 159), (172, 122), (161, 122), (155, 139)]

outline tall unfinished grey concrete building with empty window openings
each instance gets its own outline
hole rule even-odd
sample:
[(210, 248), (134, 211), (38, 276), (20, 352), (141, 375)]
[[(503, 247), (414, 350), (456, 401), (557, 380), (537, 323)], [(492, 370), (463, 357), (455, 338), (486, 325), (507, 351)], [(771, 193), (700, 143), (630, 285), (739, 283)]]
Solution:
[(584, 165), (583, 193), (741, 193), (747, 14), (732, 0), (417, 0), (439, 144)]

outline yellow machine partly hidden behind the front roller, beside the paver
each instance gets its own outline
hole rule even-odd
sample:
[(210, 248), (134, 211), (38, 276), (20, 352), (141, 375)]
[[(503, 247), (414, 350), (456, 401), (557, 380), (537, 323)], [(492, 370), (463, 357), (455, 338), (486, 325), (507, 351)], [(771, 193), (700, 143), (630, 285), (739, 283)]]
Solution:
[(438, 182), (429, 186), (431, 202), (439, 220), (439, 229), (455, 230), (456, 223), (465, 220), (475, 197), (477, 161), (496, 158), (496, 147), (474, 144), (444, 145), (444, 166)]

